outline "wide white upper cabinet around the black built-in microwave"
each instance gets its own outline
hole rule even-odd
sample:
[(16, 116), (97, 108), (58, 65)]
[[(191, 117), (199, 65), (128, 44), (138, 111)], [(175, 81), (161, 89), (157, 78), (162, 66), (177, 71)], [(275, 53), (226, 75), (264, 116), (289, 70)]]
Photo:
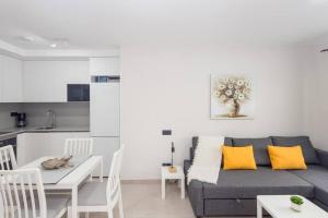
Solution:
[(89, 61), (25, 61), (25, 102), (66, 102), (68, 84), (89, 84)]

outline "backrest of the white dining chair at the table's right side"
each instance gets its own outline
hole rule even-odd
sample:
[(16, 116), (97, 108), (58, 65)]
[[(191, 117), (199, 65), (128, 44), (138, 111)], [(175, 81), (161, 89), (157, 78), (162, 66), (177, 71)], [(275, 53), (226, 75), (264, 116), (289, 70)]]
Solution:
[(121, 145), (120, 148), (114, 153), (109, 175), (108, 175), (108, 182), (107, 182), (107, 204), (117, 202), (119, 194), (120, 194), (120, 167), (122, 161), (122, 155), (125, 150), (125, 145)]

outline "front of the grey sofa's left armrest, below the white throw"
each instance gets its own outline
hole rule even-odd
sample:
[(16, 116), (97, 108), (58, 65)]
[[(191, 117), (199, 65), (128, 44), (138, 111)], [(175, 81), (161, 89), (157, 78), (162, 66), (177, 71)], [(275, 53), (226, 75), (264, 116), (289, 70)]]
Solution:
[(191, 203), (192, 210), (196, 217), (204, 216), (204, 199), (203, 199), (203, 186), (202, 182), (192, 180), (188, 185), (188, 195)]

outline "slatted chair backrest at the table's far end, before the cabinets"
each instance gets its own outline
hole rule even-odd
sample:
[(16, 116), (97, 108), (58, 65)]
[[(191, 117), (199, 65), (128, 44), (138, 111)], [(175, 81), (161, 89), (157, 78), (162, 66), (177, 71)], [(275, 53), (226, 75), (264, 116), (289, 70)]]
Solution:
[(93, 138), (67, 138), (65, 142), (66, 156), (91, 156)]

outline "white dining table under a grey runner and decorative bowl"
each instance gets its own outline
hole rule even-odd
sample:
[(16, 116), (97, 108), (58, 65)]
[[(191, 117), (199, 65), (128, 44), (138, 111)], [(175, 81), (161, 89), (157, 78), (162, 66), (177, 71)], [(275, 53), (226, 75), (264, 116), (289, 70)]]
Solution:
[[(42, 157), (37, 160), (34, 160), (20, 169), (28, 169), (28, 168), (40, 168), (40, 164), (47, 159), (51, 159), (54, 157)], [(72, 171), (67, 173), (62, 179), (60, 179), (56, 183), (44, 183), (45, 190), (52, 191), (62, 191), (68, 190), (71, 192), (71, 207), (72, 207), (72, 218), (78, 218), (78, 189), (79, 185), (85, 181), (90, 174), (94, 170), (99, 168), (99, 180), (103, 182), (103, 169), (104, 169), (104, 158), (103, 156), (91, 156), (83, 160), (78, 167), (75, 167)]]

